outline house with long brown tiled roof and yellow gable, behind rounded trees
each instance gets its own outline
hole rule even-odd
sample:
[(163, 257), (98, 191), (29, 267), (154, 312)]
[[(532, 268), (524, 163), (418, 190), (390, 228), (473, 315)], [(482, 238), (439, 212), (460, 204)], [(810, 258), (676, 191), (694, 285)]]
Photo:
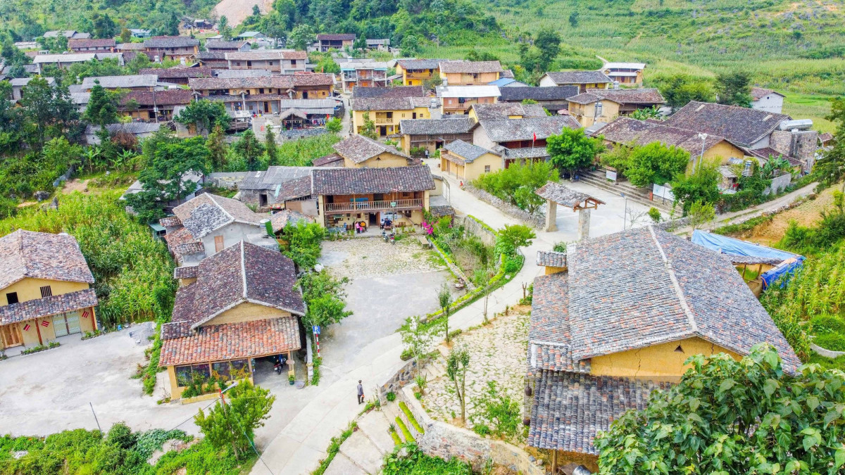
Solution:
[(695, 130), (630, 117), (617, 118), (599, 129), (598, 134), (606, 145), (611, 146), (648, 145), (659, 142), (668, 147), (675, 146), (686, 150), (690, 152), (690, 166), (687, 167), (687, 172), (690, 173), (702, 157), (709, 163), (727, 165), (729, 159), (742, 159), (745, 156), (742, 149), (720, 135), (707, 134), (702, 139)]

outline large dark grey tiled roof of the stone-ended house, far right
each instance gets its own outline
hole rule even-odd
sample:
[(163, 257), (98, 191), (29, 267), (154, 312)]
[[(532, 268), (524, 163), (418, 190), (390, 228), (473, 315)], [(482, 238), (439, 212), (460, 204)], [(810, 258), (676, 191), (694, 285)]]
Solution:
[(733, 144), (748, 147), (790, 119), (786, 114), (690, 101), (666, 119), (665, 123), (672, 127), (722, 135)]

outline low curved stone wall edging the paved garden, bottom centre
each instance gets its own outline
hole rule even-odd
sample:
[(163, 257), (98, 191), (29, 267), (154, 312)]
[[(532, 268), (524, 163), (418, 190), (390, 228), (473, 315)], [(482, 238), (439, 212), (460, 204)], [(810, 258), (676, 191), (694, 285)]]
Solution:
[(444, 460), (452, 457), (468, 461), (475, 472), (482, 472), (488, 460), (511, 471), (526, 475), (543, 475), (546, 470), (537, 460), (521, 448), (502, 440), (482, 438), (480, 435), (448, 423), (435, 421), (413, 395), (410, 386), (398, 395), (411, 410), (414, 418), (425, 429), (417, 438), (417, 445), (428, 456)]

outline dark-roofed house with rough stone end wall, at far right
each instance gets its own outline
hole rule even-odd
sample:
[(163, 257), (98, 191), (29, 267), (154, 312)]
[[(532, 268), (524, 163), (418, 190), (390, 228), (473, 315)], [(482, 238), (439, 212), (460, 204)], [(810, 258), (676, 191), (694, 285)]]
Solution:
[(782, 156), (793, 167), (809, 173), (815, 164), (819, 133), (810, 130), (812, 121), (792, 120), (786, 114), (748, 107), (724, 106), (690, 101), (663, 122), (705, 134), (721, 135), (747, 156), (763, 163)]

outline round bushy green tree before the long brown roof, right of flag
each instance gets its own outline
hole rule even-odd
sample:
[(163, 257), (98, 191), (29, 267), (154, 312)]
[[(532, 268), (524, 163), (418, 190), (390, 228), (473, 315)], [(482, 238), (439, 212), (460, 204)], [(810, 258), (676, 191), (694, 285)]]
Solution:
[(631, 151), (625, 176), (631, 184), (648, 187), (651, 183), (668, 183), (678, 173), (683, 173), (690, 163), (690, 152), (674, 145), (660, 142), (635, 147)]

